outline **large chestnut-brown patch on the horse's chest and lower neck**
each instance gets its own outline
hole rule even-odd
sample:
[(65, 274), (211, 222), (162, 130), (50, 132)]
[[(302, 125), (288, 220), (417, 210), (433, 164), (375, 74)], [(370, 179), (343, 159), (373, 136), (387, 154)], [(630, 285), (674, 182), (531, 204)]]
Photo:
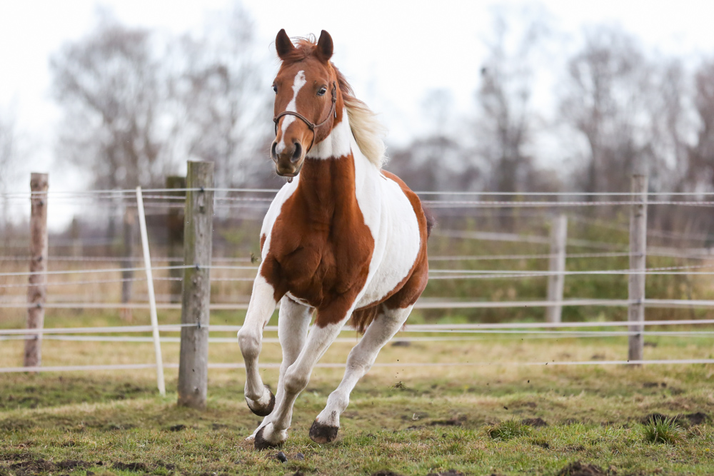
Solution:
[(369, 272), (374, 239), (355, 190), (354, 159), (308, 158), (271, 231), (261, 273), (276, 300), (288, 290), (317, 309), (324, 327), (345, 317)]

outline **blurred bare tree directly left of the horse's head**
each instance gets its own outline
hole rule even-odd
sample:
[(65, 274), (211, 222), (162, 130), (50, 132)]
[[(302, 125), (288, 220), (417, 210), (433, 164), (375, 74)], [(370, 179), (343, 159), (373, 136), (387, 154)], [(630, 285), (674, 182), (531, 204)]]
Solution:
[(202, 36), (179, 39), (171, 61), (174, 153), (216, 163), (220, 186), (247, 183), (269, 161), (273, 134), (269, 74), (251, 18), (236, 4), (208, 21)]

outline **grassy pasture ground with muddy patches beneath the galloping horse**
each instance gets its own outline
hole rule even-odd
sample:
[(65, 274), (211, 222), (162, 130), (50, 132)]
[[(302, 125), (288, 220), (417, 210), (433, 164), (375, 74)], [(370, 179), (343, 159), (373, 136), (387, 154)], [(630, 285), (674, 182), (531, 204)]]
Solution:
[[(710, 335), (647, 342), (648, 359), (714, 353)], [(178, 362), (178, 344), (163, 347), (164, 360)], [(4, 366), (21, 363), (21, 348), (0, 343)], [(336, 343), (322, 361), (344, 362), (349, 348)], [(153, 359), (151, 343), (46, 340), (43, 350), (45, 365)], [(341, 370), (316, 369), (296, 402), (287, 462), (244, 440), (259, 418), (243, 401), (241, 370), (211, 371), (203, 412), (176, 406), (175, 370), (166, 397), (149, 370), (0, 374), (0, 475), (714, 474), (714, 365), (501, 365), (625, 354), (626, 338), (389, 344), (378, 363), (492, 365), (373, 368), (331, 445), (313, 443), (308, 429)], [(210, 361), (240, 362), (238, 345), (211, 344)], [(279, 346), (263, 345), (261, 362), (278, 361)], [(277, 371), (263, 374), (274, 388)], [(676, 418), (660, 442), (648, 439), (653, 414)]]

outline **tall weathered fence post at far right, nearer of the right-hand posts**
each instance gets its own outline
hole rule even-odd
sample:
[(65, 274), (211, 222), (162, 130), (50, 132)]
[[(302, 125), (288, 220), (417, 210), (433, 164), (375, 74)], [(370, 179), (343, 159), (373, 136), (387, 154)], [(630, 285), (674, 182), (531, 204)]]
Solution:
[(630, 209), (630, 274), (628, 280), (628, 320), (630, 335), (628, 339), (628, 360), (643, 360), (644, 335), (641, 334), (645, 320), (645, 258), (647, 249), (647, 176), (632, 176), (632, 201)]

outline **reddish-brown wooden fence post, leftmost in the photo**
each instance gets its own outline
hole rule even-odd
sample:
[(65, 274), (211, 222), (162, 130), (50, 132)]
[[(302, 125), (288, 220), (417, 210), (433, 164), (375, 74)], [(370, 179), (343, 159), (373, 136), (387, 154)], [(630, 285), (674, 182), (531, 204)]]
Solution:
[[(46, 173), (30, 176), (30, 275), (27, 288), (27, 328), (44, 326), (44, 303), (47, 297), (47, 188)], [(32, 334), (25, 340), (25, 367), (42, 364), (42, 335)]]

